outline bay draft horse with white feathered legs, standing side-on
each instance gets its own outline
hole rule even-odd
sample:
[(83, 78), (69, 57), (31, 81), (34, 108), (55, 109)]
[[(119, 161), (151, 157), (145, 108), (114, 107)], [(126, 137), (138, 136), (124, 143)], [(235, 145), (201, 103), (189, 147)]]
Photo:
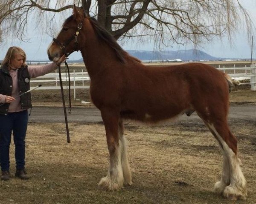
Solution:
[(105, 125), (110, 164), (103, 190), (131, 185), (124, 119), (158, 122), (196, 111), (223, 152), (221, 180), (214, 191), (232, 200), (245, 199), (246, 180), (238, 158), (237, 139), (227, 122), (232, 79), (202, 63), (145, 66), (131, 57), (96, 19), (73, 7), (47, 53), (51, 61), (81, 51), (90, 76), (90, 96)]

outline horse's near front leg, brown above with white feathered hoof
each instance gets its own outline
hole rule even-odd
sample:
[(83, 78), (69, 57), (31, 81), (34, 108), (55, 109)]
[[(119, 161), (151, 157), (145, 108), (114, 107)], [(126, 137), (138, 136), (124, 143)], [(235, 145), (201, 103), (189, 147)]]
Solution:
[(119, 190), (123, 187), (122, 144), (119, 144), (119, 112), (112, 109), (101, 110), (105, 125), (110, 164), (107, 176), (99, 182), (103, 190)]

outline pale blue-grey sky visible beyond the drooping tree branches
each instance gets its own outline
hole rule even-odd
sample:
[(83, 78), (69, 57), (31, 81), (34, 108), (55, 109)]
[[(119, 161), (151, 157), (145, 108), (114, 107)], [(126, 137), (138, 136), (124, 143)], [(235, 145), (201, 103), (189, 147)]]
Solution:
[[(249, 12), (253, 23), (256, 26), (256, 0), (242, 0), (242, 5)], [(71, 10), (70, 10), (71, 12)], [(33, 34), (33, 28), (28, 29), (29, 32), (27, 36), (30, 38), (29, 42), (21, 42), (15, 39), (4, 39), (4, 43), (0, 44), (1, 52), (0, 59), (3, 59), (7, 49), (10, 46), (19, 46), (23, 48), (26, 52), (27, 60), (48, 60), (47, 56), (47, 47), (49, 46), (52, 38), (47, 34), (41, 35)], [(256, 44), (256, 36), (254, 36), (254, 44)], [(122, 45), (125, 50), (147, 50), (152, 51), (154, 49), (154, 43), (144, 43), (140, 44), (137, 42), (128, 42)], [(192, 45), (177, 45), (172, 48), (165, 48), (165, 50), (186, 50), (192, 49)], [(251, 42), (247, 39), (247, 33), (245, 31), (240, 31), (233, 38), (233, 43), (230, 45), (230, 42), (227, 40), (227, 37), (222, 39), (214, 39), (211, 43), (201, 45), (199, 48), (201, 51), (206, 52), (207, 54), (212, 55), (213, 57), (221, 58), (250, 58), (251, 55)], [(256, 58), (256, 49), (254, 47), (253, 58)], [(69, 56), (70, 60), (81, 59), (81, 53), (74, 52)]]

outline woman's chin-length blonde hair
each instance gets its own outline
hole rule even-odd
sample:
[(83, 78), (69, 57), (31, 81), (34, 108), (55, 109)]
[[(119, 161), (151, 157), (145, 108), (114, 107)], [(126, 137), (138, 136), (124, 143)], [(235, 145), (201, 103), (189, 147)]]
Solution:
[(23, 51), (23, 49), (19, 48), (19, 47), (10, 47), (6, 53), (6, 56), (3, 59), (2, 65), (6, 65), (9, 66), (12, 64), (12, 61), (15, 59), (15, 55), (16, 54), (20, 54), (22, 57), (24, 57), (23, 59), (23, 64), (26, 64), (26, 53)]

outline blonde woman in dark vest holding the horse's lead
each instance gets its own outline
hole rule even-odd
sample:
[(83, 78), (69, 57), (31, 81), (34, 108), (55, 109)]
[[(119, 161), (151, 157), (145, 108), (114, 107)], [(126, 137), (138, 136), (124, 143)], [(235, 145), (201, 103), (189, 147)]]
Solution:
[(13, 133), (15, 143), (15, 176), (29, 179), (25, 171), (25, 137), (28, 109), (32, 108), (29, 80), (54, 71), (65, 59), (44, 66), (26, 65), (26, 54), (19, 47), (10, 47), (0, 68), (0, 166), (1, 180), (9, 180), (9, 147)]

